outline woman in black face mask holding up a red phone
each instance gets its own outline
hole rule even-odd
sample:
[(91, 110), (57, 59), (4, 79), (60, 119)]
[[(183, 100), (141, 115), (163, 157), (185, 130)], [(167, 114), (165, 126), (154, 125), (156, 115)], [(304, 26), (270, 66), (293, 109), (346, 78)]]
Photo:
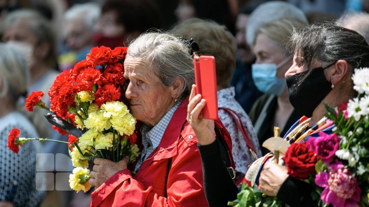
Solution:
[[(286, 139), (295, 141), (302, 134), (307, 135), (305, 139), (314, 137), (322, 129), (320, 128), (322, 125), (329, 125), (324, 118), (326, 113), (324, 103), (337, 107), (355, 95), (351, 76), (354, 68), (369, 66), (369, 45), (357, 32), (333, 25), (312, 25), (297, 30), (291, 42), (294, 63), (285, 73), (289, 97), (297, 111), (311, 117), (301, 118), (286, 134)], [(204, 130), (211, 129), (213, 122), (197, 119), (204, 105), (205, 101), (201, 99), (201, 95), (195, 96), (194, 93), (190, 95), (188, 121), (197, 135), (198, 142), (202, 145), (199, 147), (201, 156), (204, 156), (202, 148), (209, 148), (216, 143), (214, 135)], [(308, 124), (300, 124), (301, 120), (306, 120), (304, 123)], [(333, 127), (327, 127), (323, 131), (332, 133)], [(215, 158), (217, 157), (213, 157)], [(227, 174), (227, 169), (221, 167), (221, 159), (218, 161), (219, 168), (212, 170), (222, 171), (226, 177), (222, 179), (208, 177), (204, 186), (208, 199), (213, 199), (213, 203), (225, 204), (227, 200), (236, 199), (237, 187)], [(209, 166), (204, 162), (202, 164), (203, 167)], [(246, 178), (252, 182), (259, 182), (263, 193), (277, 196), (291, 206), (316, 205), (311, 198), (312, 187), (308, 183), (289, 177), (285, 167), (266, 162), (262, 169), (260, 162), (255, 162), (249, 171), (253, 168), (260, 169), (260, 179), (249, 176), (249, 173)], [(203, 169), (204, 172), (208, 170)], [(222, 188), (219, 189), (219, 186)], [(222, 197), (212, 197), (207, 192), (217, 193), (214, 189), (231, 193), (224, 193)]]

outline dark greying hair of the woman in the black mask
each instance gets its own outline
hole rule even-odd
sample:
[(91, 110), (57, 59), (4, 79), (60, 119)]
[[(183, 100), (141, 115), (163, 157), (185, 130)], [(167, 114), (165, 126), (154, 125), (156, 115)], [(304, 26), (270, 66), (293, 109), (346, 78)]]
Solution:
[(311, 70), (317, 61), (324, 67), (337, 60), (347, 62), (349, 75), (355, 68), (369, 67), (369, 45), (365, 38), (356, 31), (332, 24), (314, 24), (295, 30), (289, 48), (304, 70)]

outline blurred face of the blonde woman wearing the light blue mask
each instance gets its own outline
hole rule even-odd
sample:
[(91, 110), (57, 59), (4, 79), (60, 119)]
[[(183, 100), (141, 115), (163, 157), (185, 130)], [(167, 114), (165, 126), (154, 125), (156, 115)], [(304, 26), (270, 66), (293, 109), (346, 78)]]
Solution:
[[(253, 46), (253, 52), (256, 55), (256, 64), (276, 64), (288, 58), (284, 55), (281, 47), (278, 47), (273, 40), (266, 35), (259, 33)], [(290, 60), (291, 61), (291, 60)], [(284, 78), (284, 73), (290, 68), (290, 64), (286, 63), (277, 70), (276, 77)]]

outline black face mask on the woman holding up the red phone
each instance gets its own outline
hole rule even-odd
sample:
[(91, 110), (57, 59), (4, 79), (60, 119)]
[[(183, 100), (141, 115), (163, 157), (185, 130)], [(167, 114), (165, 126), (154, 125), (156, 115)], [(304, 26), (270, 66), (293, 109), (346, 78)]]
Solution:
[[(325, 78), (324, 69), (335, 63), (325, 68), (315, 68), (286, 78), (290, 102), (296, 111), (307, 117), (313, 115), (315, 108), (332, 90), (331, 82)], [(303, 77), (304, 80), (300, 82)]]

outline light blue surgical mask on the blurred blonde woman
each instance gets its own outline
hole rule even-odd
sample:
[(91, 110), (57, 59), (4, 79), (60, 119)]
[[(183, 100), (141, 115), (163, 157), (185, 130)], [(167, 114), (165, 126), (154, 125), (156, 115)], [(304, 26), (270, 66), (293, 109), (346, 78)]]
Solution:
[(277, 69), (286, 64), (292, 56), (284, 59), (280, 64), (253, 64), (252, 77), (259, 91), (266, 94), (280, 95), (286, 85), (285, 78), (278, 79)]

